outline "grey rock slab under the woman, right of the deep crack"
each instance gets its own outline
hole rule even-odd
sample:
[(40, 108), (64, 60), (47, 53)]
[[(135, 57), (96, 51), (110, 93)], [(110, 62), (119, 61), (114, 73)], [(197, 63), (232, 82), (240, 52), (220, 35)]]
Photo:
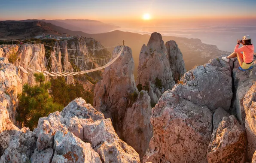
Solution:
[(244, 95), (250, 90), (256, 81), (256, 57), (253, 61), (253, 69), (241, 71), (238, 69), (239, 63), (235, 61), (233, 69), (233, 78), (235, 86), (235, 97), (233, 103), (233, 112), (236, 113), (240, 123), (245, 124), (245, 111), (243, 106)]

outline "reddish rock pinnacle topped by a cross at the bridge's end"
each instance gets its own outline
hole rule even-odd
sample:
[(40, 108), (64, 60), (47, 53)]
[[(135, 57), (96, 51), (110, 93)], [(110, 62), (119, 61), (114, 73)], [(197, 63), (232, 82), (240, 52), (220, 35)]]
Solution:
[[(116, 47), (113, 53), (119, 48)], [(138, 92), (133, 70), (132, 51), (125, 46), (120, 57), (104, 70), (102, 80), (95, 85), (94, 107), (106, 118), (111, 118), (118, 136), (142, 158), (152, 137), (151, 106), (147, 91)]]

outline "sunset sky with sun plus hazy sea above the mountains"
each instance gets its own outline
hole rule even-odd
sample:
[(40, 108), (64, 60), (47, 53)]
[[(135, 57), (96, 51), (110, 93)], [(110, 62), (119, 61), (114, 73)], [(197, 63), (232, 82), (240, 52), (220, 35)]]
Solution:
[(256, 38), (255, 0), (1, 1), (0, 20), (96, 20), (115, 30), (198, 38), (230, 52), (244, 35)]

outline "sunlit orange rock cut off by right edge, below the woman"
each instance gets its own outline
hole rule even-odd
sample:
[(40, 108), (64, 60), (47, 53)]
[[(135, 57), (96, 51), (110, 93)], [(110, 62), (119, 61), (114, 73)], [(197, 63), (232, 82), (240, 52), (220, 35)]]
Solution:
[(246, 114), (245, 129), (247, 133), (247, 155), (252, 159), (256, 151), (256, 83), (250, 88), (243, 100)]

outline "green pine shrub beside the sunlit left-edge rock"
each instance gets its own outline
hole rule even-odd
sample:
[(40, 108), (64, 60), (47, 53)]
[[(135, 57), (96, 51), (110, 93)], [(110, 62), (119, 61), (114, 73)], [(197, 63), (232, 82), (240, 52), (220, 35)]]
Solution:
[(16, 120), (21, 122), (21, 126), (29, 127), (30, 130), (37, 127), (40, 117), (63, 109), (63, 106), (54, 103), (53, 98), (49, 95), (48, 90), (51, 88), (51, 83), (45, 82), (43, 73), (35, 73), (34, 77), (37, 85), (25, 84), (22, 93), (18, 94), (19, 106), (16, 116)]

